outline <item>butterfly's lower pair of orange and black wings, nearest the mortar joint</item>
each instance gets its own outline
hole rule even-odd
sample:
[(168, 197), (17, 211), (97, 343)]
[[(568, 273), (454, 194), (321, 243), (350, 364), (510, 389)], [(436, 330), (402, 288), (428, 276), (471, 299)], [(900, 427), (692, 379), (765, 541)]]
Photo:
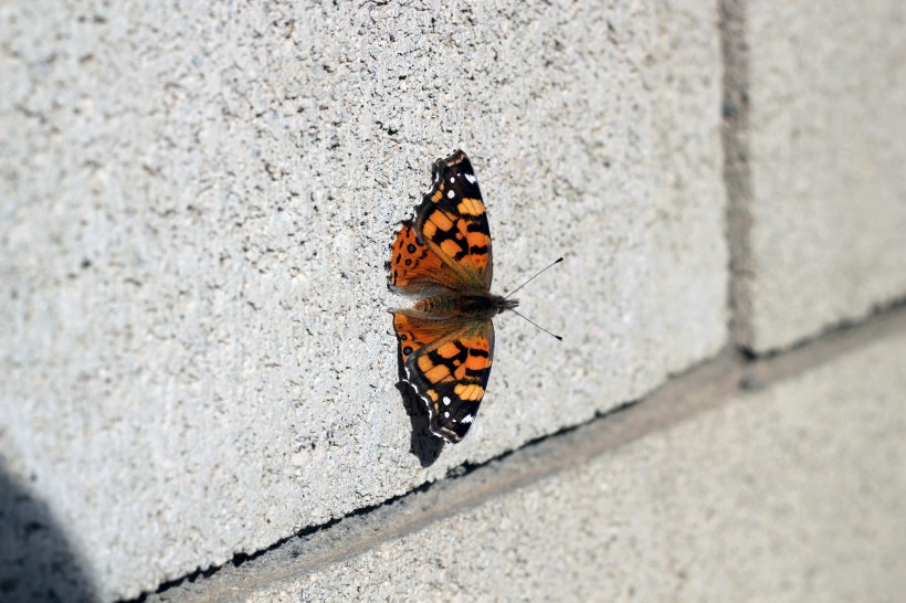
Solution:
[(472, 427), (491, 375), (491, 320), (436, 320), (393, 314), (405, 378), (428, 408), (429, 429), (456, 444)]

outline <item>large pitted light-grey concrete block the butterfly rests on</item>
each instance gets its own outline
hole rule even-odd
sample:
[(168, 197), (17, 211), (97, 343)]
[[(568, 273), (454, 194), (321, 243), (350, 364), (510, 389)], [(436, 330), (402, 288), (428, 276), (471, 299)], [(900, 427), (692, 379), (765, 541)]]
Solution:
[[(85, 583), (134, 596), (719, 348), (717, 34), (707, 7), (673, 7), (2, 3), (12, 512), (46, 505)], [(393, 387), (382, 265), (456, 147), (498, 290), (566, 255), (523, 296), (566, 342), (502, 317), (482, 415), (431, 465)]]

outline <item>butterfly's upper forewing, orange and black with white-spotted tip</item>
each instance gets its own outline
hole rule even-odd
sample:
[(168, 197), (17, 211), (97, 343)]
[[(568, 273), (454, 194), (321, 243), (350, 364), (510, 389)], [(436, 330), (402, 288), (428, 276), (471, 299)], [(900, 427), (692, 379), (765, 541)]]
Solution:
[(489, 290), (491, 228), (472, 162), (457, 150), (434, 162), (433, 176), (415, 208), (414, 231), (465, 287)]

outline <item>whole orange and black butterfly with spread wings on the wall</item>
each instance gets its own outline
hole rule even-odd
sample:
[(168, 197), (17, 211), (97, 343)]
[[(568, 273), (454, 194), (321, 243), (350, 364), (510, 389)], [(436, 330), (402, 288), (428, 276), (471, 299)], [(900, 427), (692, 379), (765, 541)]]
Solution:
[(452, 444), (468, 433), (494, 356), (492, 317), (518, 305), (491, 293), (493, 256), (482, 192), (462, 150), (433, 166), (433, 183), (390, 246), (389, 286), (419, 295), (393, 309), (408, 383), (429, 430)]

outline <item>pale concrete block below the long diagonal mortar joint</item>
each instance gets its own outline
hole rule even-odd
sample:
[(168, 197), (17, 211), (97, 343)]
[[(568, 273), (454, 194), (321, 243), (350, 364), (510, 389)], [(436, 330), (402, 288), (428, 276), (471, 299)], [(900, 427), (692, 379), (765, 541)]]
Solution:
[[(318, 549), (330, 535), (316, 535), (152, 601), (897, 602), (906, 589), (904, 326), (830, 361), (803, 350), (767, 371), (776, 381), (761, 391), (677, 400), (698, 412), (666, 429), (645, 434), (644, 421), (626, 416), (641, 437), (523, 487), (505, 484), (477, 506), (444, 515), (434, 509), (455, 501), (417, 494), (362, 518), (354, 538), (346, 521), (330, 528), (333, 552)], [(809, 370), (789, 373), (809, 357)], [(676, 400), (659, 398), (651, 403), (667, 409)], [(506, 465), (545, 462), (517, 454), (447, 494), (471, 496), (506, 482)], [(412, 516), (433, 521), (373, 540), (394, 521), (418, 526)]]

